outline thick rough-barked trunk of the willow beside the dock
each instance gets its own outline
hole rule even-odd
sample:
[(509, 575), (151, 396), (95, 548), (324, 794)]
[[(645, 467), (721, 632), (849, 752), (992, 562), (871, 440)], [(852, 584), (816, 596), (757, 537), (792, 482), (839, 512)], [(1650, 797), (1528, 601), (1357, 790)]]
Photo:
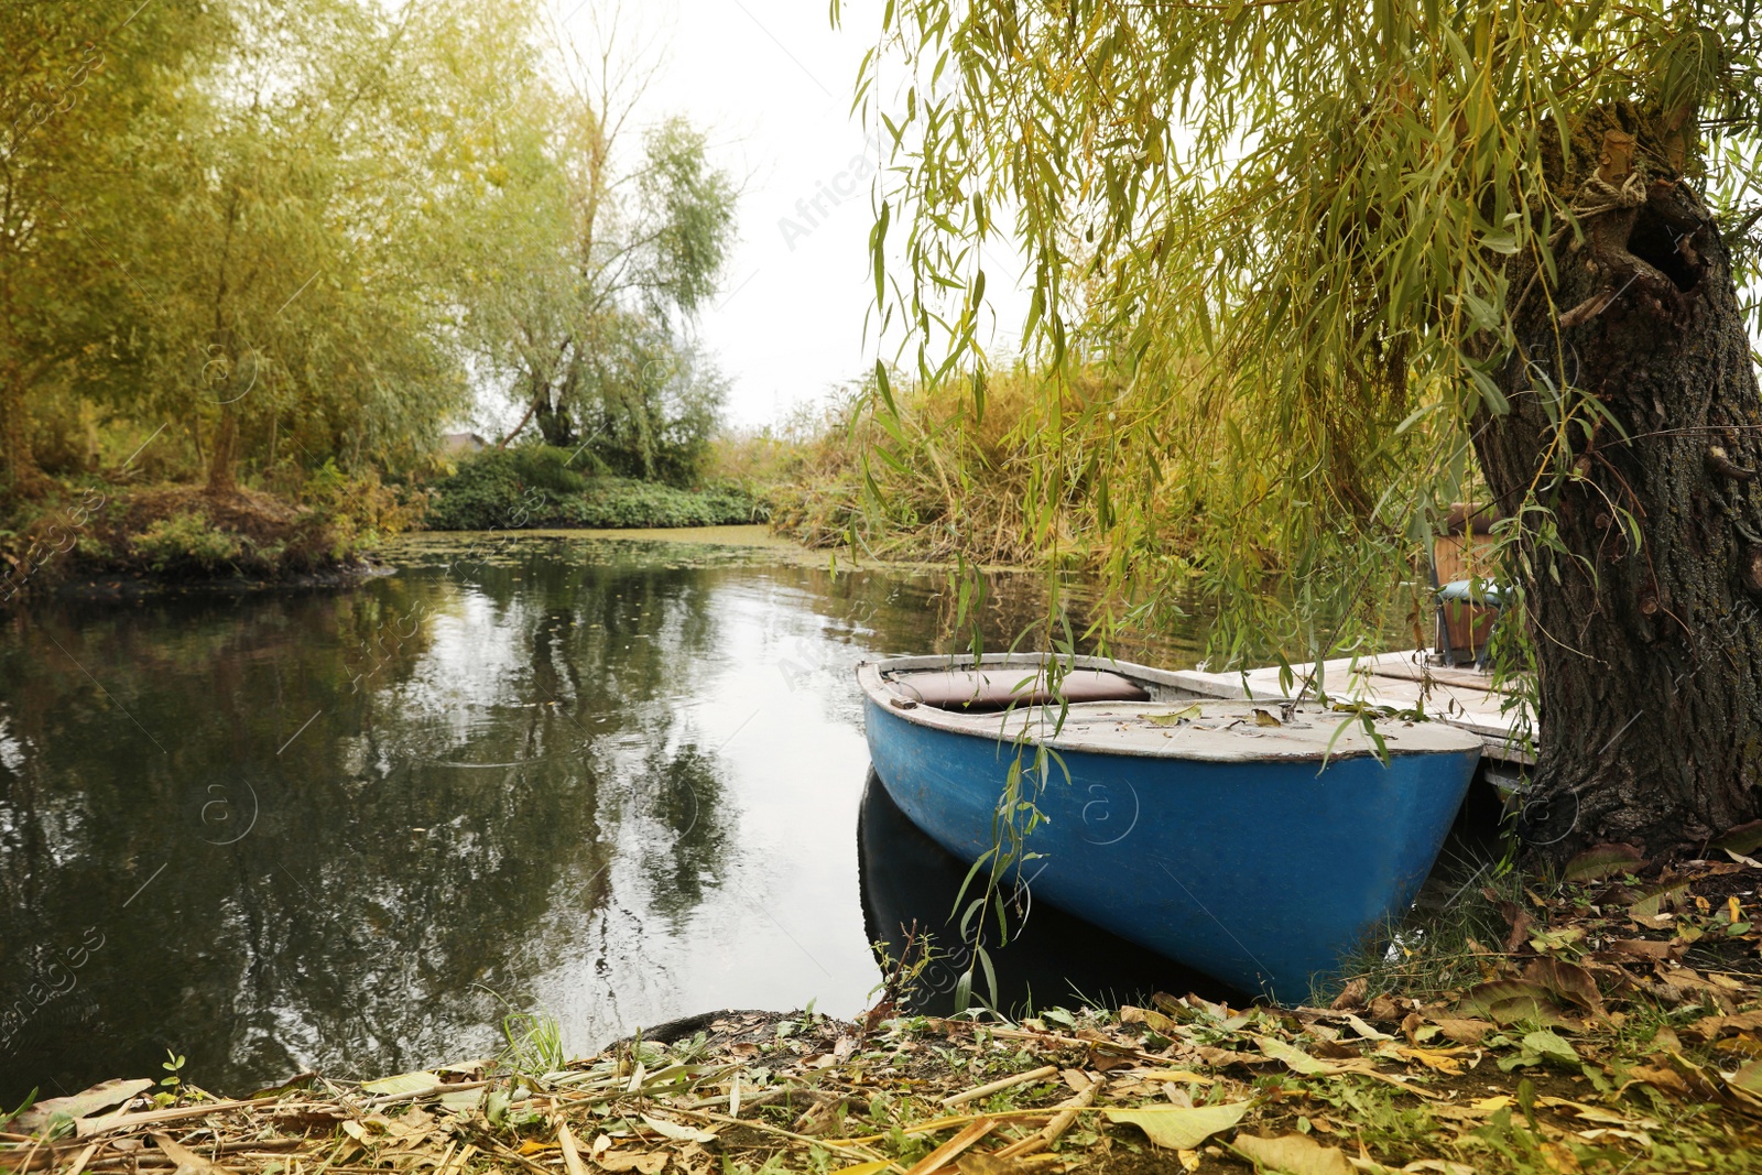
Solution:
[(1584, 160), (1595, 141), (1573, 160), (1582, 247), (1558, 243), (1551, 291), (1512, 271), (1512, 291), (1529, 292), (1501, 379), (1510, 412), (1475, 430), (1505, 514), (1535, 488), (1558, 525), (1558, 543), (1524, 539), (1521, 573), (1540, 756), (1519, 831), (1531, 856), (1552, 860), (1605, 840), (1699, 851), (1757, 816), (1762, 780), (1750, 338), (1706, 206), (1677, 176), (1635, 173), (1616, 118), (1598, 178), (1598, 160)]

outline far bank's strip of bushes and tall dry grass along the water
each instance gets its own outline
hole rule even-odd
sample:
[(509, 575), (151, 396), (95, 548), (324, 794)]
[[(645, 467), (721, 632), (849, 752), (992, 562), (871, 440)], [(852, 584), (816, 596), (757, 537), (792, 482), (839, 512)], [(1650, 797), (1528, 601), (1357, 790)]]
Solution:
[[(1099, 384), (1091, 391), (1103, 395)], [(335, 462), (268, 470), (224, 491), (204, 486), (201, 463), (174, 446), (169, 456), (148, 449), (139, 465), (69, 458), (35, 495), (0, 499), (0, 606), (69, 585), (106, 594), (344, 583), (372, 574), (379, 544), (409, 530), (765, 523), (805, 550), (855, 544), (879, 562), (1096, 565), (1101, 553), (1073, 539), (1101, 507), (1094, 486), (1066, 493), (1070, 518), (1054, 530), (1036, 532), (1022, 514), (1025, 479), (1050, 460), (1029, 377), (994, 379), (981, 418), (911, 386), (895, 395), (897, 419), (879, 410), (872, 379), (849, 384), (781, 426), (708, 440), (673, 481), (622, 476), (590, 447), (534, 439), (388, 474)], [(895, 453), (897, 421), (934, 444)], [(115, 430), (93, 444), (120, 451), (137, 440)], [(1170, 530), (1161, 553), (1179, 560), (1181, 544)]]

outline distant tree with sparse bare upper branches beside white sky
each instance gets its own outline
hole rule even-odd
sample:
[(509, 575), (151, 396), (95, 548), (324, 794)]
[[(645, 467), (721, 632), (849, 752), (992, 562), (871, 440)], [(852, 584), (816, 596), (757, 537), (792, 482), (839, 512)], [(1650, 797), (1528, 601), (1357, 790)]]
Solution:
[(560, 81), (534, 72), (499, 113), (509, 178), (486, 215), (507, 233), (479, 236), (467, 335), (525, 405), (502, 444), (536, 423), (548, 444), (678, 479), (721, 396), (691, 328), (733, 245), (737, 190), (684, 120), (631, 151), (650, 72), (618, 37), (611, 19), (594, 60), (562, 55)]

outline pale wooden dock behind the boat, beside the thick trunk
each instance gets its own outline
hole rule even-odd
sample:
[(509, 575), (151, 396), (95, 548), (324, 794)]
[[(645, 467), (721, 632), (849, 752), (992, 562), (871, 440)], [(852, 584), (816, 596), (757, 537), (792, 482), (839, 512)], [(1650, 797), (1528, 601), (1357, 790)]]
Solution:
[[(1249, 669), (1247, 673), (1209, 673), (1205, 669), (1177, 669), (1170, 676), (1196, 694), (1214, 698), (1242, 698), (1277, 701), (1304, 689), (1314, 673), (1314, 664), (1292, 666), (1297, 680), (1292, 691), (1279, 685), (1279, 668)], [(1512, 712), (1501, 712), (1505, 694), (1492, 689), (1492, 676), (1473, 668), (1434, 664), (1434, 654), (1425, 648), (1341, 657), (1322, 662), (1322, 684), (1329, 696), (1351, 698), (1378, 706), (1413, 710), (1480, 735), (1485, 756), (1512, 768), (1522, 768), (1535, 759), (1512, 738)], [(1311, 696), (1314, 691), (1311, 689)]]

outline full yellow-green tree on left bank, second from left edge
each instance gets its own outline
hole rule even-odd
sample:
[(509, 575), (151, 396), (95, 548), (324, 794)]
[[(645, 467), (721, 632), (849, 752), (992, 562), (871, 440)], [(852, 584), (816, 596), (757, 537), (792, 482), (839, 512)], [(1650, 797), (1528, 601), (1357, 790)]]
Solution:
[(456, 160), (400, 150), (421, 93), (405, 58), (460, 30), (414, 12), (234, 0), (233, 53), (166, 136), (159, 218), (136, 241), (152, 291), (137, 407), (208, 433), (211, 493), (236, 488), (247, 449), (384, 460), (465, 403), (416, 192), (470, 196)]

